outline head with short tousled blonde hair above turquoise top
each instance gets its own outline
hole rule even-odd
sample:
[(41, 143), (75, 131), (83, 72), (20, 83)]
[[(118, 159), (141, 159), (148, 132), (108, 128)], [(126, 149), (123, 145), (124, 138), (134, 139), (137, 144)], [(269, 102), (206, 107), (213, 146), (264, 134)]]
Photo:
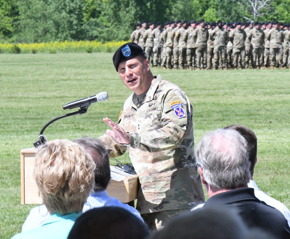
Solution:
[(69, 140), (41, 145), (35, 154), (39, 195), (50, 213), (81, 212), (94, 187), (95, 163), (83, 147)]

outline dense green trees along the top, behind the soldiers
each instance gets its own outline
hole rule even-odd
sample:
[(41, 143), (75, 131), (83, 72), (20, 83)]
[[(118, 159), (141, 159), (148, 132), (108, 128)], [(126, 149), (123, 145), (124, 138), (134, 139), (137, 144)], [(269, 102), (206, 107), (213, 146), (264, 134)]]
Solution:
[(0, 0), (0, 40), (128, 40), (144, 19), (290, 22), (290, 0), (257, 3), (254, 8), (248, 0)]

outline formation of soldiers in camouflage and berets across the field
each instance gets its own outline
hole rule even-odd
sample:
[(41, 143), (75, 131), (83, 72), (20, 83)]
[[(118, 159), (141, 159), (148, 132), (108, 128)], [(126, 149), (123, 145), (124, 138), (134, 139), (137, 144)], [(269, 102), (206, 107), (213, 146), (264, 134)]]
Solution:
[(164, 69), (290, 68), (290, 23), (147, 21), (136, 24), (131, 41), (154, 67)]

